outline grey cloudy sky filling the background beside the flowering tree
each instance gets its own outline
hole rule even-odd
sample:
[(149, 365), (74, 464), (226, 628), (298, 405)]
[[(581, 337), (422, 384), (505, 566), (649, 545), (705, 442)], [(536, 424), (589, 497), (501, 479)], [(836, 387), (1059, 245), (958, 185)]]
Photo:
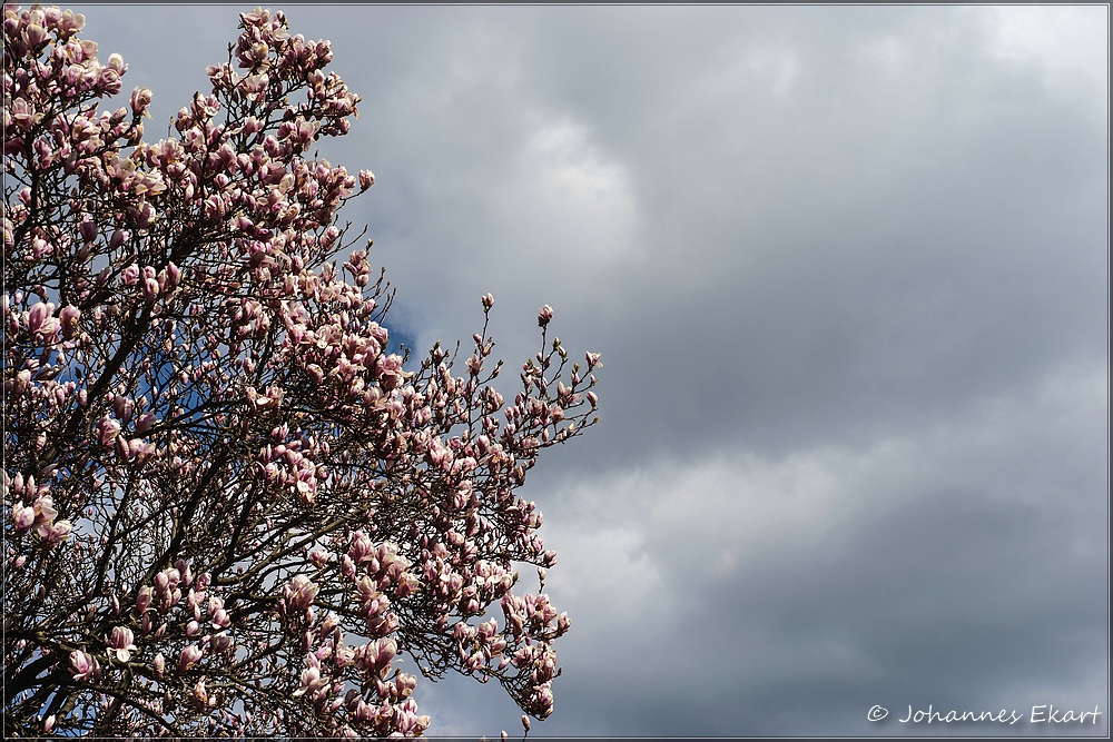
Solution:
[[(154, 136), (247, 9), (75, 7)], [(573, 617), (535, 734), (1109, 733), (1106, 7), (286, 12), (363, 96), (323, 155), (395, 337), (492, 291), (508, 363), (544, 303), (602, 353), (524, 493)]]

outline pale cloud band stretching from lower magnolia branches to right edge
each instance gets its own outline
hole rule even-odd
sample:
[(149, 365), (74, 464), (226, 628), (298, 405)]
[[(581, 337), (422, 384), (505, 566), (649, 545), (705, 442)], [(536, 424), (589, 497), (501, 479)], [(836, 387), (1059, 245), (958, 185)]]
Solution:
[[(1101, 503), (1087, 489), (1095, 482), (1064, 491), (1060, 474), (1044, 474), (1025, 452), (1054, 451), (1056, 441), (1099, 425), (1109, 412), (1106, 383), (1104, 368), (1067, 368), (933, 427), (857, 448), (781, 457), (735, 449), (612, 471), (546, 497), (559, 504), (546, 506), (554, 512), (545, 541), (561, 557), (549, 584), (573, 615), (602, 620), (648, 610), (661, 591), (727, 585), (790, 562), (818, 560), (823, 572), (825, 552), (857, 548), (863, 523), (899, 517), (955, 491), (992, 511), (1085, 517)], [(1068, 465), (1085, 471), (1100, 443)], [(1063, 546), (1074, 557), (1097, 556), (1104, 546), (1092, 535), (1077, 531)]]

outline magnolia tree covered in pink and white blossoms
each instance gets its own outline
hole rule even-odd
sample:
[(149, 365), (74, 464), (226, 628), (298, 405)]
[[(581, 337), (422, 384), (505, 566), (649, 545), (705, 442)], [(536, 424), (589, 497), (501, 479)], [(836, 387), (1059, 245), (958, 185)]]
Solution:
[(358, 98), (240, 18), (149, 144), (81, 16), (4, 7), (4, 734), (418, 735), (403, 667), (544, 719), (569, 620), (514, 592), (555, 560), (515, 491), (597, 422), (598, 356), (543, 307), (504, 404), (490, 294), (462, 367), (388, 353), (336, 222), (374, 178), (307, 155)]

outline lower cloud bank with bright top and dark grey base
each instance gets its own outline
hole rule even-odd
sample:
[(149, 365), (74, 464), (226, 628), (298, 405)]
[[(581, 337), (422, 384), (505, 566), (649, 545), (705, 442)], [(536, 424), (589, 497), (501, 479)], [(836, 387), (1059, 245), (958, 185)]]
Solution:
[[(669, 461), (573, 494), (550, 513), (574, 555), (554, 593), (588, 626), (553, 731), (859, 735), (896, 729), (865, 721), (875, 703), (1099, 702), (1106, 485), (1080, 473), (1104, 441), (1078, 446), (1101, 382), (867, 451)], [(592, 699), (608, 685), (629, 690)]]

